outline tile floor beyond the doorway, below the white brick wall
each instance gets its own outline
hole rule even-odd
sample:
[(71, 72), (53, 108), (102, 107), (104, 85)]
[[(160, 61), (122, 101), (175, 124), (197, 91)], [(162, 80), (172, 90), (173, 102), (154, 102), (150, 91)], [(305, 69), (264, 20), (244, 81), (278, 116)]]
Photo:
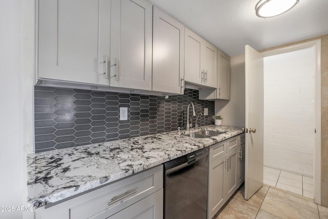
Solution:
[(263, 183), (313, 198), (313, 178), (270, 167), (263, 169)]

